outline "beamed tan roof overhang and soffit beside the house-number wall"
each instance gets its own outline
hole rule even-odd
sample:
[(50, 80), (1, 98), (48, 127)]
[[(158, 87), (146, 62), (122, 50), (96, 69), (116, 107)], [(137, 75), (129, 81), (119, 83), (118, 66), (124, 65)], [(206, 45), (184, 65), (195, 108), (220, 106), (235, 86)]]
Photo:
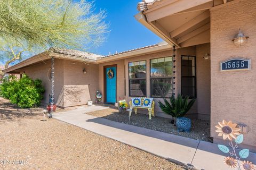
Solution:
[(174, 42), (180, 47), (186, 47), (184, 45), (189, 45), (193, 41), (195, 45), (210, 43), (210, 34), (206, 33), (210, 32), (210, 9), (235, 1), (152, 0), (150, 3), (146, 2), (147, 8), (142, 13), (149, 25), (155, 29), (153, 32), (170, 40), (171, 45)]

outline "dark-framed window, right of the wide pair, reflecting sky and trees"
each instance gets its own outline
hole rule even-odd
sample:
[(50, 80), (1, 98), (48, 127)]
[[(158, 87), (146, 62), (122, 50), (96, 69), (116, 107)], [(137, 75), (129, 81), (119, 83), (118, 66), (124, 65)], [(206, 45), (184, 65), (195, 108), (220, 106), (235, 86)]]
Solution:
[(150, 60), (151, 97), (167, 98), (172, 96), (172, 57)]

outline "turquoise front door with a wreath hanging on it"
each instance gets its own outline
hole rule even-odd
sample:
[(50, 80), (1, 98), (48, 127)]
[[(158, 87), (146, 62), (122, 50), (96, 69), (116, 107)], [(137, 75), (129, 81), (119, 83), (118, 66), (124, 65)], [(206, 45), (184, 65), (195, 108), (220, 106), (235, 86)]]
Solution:
[(116, 103), (116, 67), (106, 68), (106, 102)]

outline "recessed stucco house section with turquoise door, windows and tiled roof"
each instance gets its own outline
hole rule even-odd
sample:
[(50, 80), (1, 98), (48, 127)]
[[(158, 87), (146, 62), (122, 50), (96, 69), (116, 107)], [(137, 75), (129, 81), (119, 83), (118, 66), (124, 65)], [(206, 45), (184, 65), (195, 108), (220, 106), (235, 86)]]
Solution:
[[(196, 60), (197, 51), (200, 51), (198, 55), (202, 57), (198, 57)], [(179, 56), (177, 57), (177, 63), (180, 63), (180, 65), (177, 64), (177, 88), (175, 88), (175, 93), (181, 92), (179, 81), (181, 81), (182, 61), (183, 63), (191, 61), (190, 66), (183, 66), (185, 67), (183, 71), (187, 71), (188, 74), (194, 72), (194, 75), (191, 75), (193, 78), (190, 79), (194, 79), (195, 82), (195, 75), (201, 77), (201, 74), (203, 74), (204, 83), (210, 85), (210, 60), (204, 60), (203, 58), (205, 53), (210, 53), (210, 44), (177, 49), (176, 53)], [(157, 94), (161, 89), (158, 87), (159, 84), (156, 83), (162, 81), (171, 84), (172, 54), (172, 46), (165, 42), (108, 56), (78, 50), (51, 49), (11, 66), (5, 69), (4, 72), (20, 75), (25, 73), (31, 78), (42, 79), (43, 86), (46, 89), (43, 103), (47, 104), (51, 94), (51, 58), (54, 57), (54, 101), (61, 108), (85, 105), (88, 100), (95, 102), (97, 90), (103, 95), (103, 103), (115, 103), (119, 99), (130, 101), (132, 96), (151, 96), (157, 102), (163, 100), (163, 97), (170, 97), (172, 94), (170, 86), (166, 86), (169, 89)], [(181, 56), (183, 56), (183, 60)], [(196, 69), (198, 62), (208, 65), (208, 71), (206, 68)], [(187, 67), (190, 70), (186, 69)], [(115, 69), (116, 77), (114, 84), (110, 86), (107, 84), (109, 80), (108, 68)], [(201, 79), (197, 79), (201, 81)], [(199, 87), (202, 86), (201, 82), (197, 84)], [(155, 89), (152, 88), (154, 86)], [(194, 105), (190, 111), (190, 116), (210, 120), (210, 86), (201, 87), (198, 90), (195, 86), (196, 84), (193, 87), (194, 91), (191, 90), (191, 93), (193, 93), (191, 97), (194, 95), (197, 98), (201, 98), (201, 95), (207, 97), (204, 97), (201, 103), (197, 102)], [(183, 87), (186, 88), (187, 86), (183, 85)], [(188, 95), (188, 90), (185, 88), (183, 90), (186, 90), (186, 94), (185, 92), (183, 94)], [(110, 96), (114, 93), (114, 100), (113, 96), (108, 98), (107, 93), (109, 91)], [(195, 91), (197, 92), (195, 93)], [(197, 111), (198, 108), (199, 112)], [(155, 112), (158, 113), (158, 116), (166, 116), (158, 106), (155, 107)]]

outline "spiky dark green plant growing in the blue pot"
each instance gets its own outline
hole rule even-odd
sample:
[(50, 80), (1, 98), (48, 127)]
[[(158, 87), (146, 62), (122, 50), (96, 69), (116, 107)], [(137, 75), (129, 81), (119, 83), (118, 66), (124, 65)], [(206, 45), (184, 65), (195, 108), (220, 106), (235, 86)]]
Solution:
[(161, 101), (158, 101), (158, 104), (164, 113), (169, 114), (174, 118), (174, 125), (176, 125), (177, 117), (185, 116), (196, 101), (196, 99), (188, 100), (189, 96), (183, 97), (179, 94), (177, 98), (174, 96), (170, 97), (170, 103), (164, 99), (164, 104)]

